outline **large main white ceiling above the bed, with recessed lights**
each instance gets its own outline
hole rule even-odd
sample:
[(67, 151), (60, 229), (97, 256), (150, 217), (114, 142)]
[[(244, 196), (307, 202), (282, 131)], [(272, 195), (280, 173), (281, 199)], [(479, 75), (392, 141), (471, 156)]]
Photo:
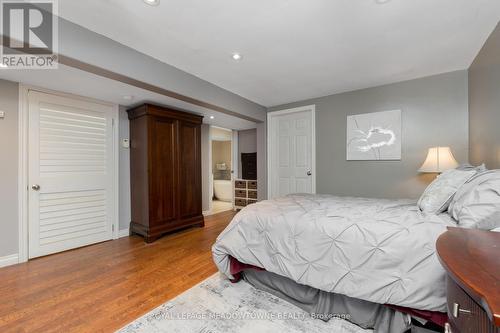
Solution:
[(59, 3), (62, 17), (265, 106), (468, 68), (500, 19), (499, 0), (160, 1)]

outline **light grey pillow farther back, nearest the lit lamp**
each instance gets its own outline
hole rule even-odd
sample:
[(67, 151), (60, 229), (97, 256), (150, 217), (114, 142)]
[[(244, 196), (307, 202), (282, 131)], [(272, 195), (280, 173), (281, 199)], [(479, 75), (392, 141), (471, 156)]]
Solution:
[(438, 214), (444, 212), (457, 190), (475, 174), (475, 170), (452, 169), (443, 172), (427, 186), (418, 200), (418, 207), (421, 211), (427, 213)]

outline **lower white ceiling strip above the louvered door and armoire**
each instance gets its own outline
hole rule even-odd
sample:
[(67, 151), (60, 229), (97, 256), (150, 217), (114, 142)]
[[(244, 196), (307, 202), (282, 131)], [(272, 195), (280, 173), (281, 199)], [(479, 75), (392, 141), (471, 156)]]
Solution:
[[(205, 124), (229, 129), (243, 130), (257, 126), (254, 122), (248, 120), (188, 104), (174, 98), (64, 65), (59, 65), (59, 68), (54, 70), (11, 70), (0, 68), (0, 79), (90, 97), (126, 107), (144, 102), (168, 105), (179, 110), (188, 110), (190, 113), (204, 116), (203, 123)], [(125, 100), (124, 96), (132, 96), (133, 99)], [(213, 116), (214, 119), (210, 119), (210, 116)]]

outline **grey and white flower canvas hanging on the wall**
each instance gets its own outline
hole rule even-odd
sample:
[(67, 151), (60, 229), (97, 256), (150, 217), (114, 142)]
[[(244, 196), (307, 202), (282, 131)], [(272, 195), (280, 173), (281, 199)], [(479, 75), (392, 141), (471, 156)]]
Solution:
[(347, 116), (347, 160), (401, 160), (401, 110)]

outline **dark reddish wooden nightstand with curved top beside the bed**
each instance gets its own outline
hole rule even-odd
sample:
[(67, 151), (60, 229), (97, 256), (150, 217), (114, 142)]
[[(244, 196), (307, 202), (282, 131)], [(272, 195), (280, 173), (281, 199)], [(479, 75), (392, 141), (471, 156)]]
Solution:
[(500, 233), (448, 228), (436, 247), (451, 332), (500, 333)]

